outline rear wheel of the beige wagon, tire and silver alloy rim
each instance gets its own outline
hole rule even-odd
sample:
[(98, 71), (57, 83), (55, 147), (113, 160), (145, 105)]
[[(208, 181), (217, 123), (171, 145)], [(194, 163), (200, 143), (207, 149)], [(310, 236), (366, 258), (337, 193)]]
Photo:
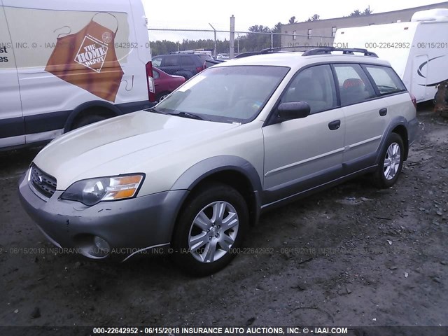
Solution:
[(386, 146), (381, 152), (377, 171), (373, 176), (374, 185), (377, 188), (390, 188), (395, 184), (402, 169), (404, 154), (403, 141), (400, 135), (391, 133), (386, 140)]

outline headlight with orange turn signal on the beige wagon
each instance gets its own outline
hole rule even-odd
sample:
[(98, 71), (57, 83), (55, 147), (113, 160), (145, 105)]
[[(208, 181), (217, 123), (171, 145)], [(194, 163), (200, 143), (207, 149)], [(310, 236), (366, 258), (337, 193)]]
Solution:
[(124, 200), (137, 195), (144, 175), (111, 176), (73, 183), (62, 193), (62, 200), (94, 205), (101, 201)]

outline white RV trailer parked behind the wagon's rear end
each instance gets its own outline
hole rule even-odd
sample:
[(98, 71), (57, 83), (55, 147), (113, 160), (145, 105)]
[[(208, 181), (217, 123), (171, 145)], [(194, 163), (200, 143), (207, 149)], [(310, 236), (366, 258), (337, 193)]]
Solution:
[(410, 22), (337, 29), (335, 43), (365, 48), (391, 63), (417, 102), (448, 80), (448, 9), (414, 13)]

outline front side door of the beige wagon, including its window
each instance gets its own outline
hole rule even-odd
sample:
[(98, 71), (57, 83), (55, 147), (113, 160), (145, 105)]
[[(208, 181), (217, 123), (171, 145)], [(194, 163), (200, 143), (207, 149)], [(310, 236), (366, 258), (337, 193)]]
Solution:
[(299, 71), (281, 102), (307, 102), (311, 114), (262, 128), (264, 204), (321, 186), (342, 172), (344, 112), (337, 106), (330, 66)]

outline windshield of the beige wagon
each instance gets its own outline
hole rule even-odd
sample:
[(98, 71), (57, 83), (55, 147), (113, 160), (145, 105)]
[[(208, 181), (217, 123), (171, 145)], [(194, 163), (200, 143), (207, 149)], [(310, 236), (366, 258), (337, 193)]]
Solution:
[(204, 120), (247, 123), (265, 106), (290, 68), (220, 66), (202, 71), (156, 106), (160, 113), (186, 113)]

